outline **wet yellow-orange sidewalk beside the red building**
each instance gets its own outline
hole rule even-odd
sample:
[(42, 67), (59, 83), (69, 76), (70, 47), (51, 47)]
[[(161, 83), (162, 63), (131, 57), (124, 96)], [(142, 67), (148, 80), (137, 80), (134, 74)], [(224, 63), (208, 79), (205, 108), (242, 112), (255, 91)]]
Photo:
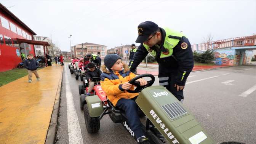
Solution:
[(53, 64), (0, 87), (0, 143), (45, 143), (53, 106), (59, 96), (63, 66)]

